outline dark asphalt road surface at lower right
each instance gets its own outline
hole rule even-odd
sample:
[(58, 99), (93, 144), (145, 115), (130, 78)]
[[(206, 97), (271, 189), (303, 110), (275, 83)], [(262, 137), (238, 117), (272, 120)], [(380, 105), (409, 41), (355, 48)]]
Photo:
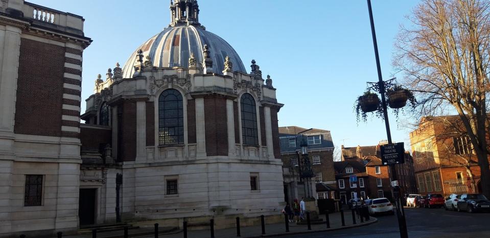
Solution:
[[(444, 208), (405, 207), (408, 237), (490, 237), (490, 213), (446, 211)], [(296, 234), (285, 238), (400, 237), (396, 216), (377, 216), (378, 222), (346, 230)]]

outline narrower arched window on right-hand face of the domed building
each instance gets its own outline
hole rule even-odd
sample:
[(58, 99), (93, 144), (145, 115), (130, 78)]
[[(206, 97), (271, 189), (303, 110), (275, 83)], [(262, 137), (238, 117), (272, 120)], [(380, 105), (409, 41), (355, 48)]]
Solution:
[(257, 111), (253, 97), (245, 93), (240, 100), (242, 113), (242, 140), (246, 145), (259, 145), (257, 132)]

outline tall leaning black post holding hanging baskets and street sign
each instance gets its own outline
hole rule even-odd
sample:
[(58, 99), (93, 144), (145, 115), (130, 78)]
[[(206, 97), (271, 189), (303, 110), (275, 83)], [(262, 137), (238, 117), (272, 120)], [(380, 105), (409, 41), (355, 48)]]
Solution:
[[(375, 48), (375, 56), (376, 56), (376, 66), (378, 68), (378, 83), (377, 85), (374, 85), (374, 89), (377, 90), (381, 94), (381, 105), (383, 107), (383, 115), (384, 115), (384, 121), (385, 121), (385, 126), (386, 126), (386, 134), (388, 137), (388, 144), (391, 144), (391, 132), (390, 132), (390, 124), (388, 121), (388, 113), (387, 113), (387, 107), (386, 107), (386, 99), (385, 99), (385, 86), (386, 84), (389, 84), (391, 80), (389, 81), (383, 81), (383, 77), (381, 75), (381, 65), (380, 65), (380, 57), (378, 53), (378, 42), (376, 40), (376, 31), (375, 31), (375, 23), (374, 20), (372, 19), (372, 8), (371, 8), (371, 0), (367, 0), (367, 8), (369, 10), (369, 20), (371, 23), (371, 33), (372, 33), (372, 43), (374, 44)], [(395, 165), (391, 164), (390, 165), (390, 170), (391, 170), (391, 181), (396, 181), (398, 180), (398, 176), (396, 175), (396, 169)], [(398, 218), (398, 226), (400, 229), (400, 237), (402, 238), (408, 238), (408, 233), (407, 233), (407, 223), (405, 221), (405, 214), (403, 212), (403, 205), (401, 203), (400, 199), (400, 186), (396, 184), (395, 186), (392, 186), (393, 188), (393, 196), (395, 199), (395, 205), (396, 205), (396, 217)]]

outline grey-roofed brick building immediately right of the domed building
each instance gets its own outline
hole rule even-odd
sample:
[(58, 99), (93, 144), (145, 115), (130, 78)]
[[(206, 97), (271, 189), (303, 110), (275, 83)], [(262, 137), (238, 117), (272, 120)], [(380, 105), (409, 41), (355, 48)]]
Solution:
[(330, 131), (306, 129), (297, 126), (279, 127), (279, 142), (283, 160), (283, 176), (285, 200), (307, 197), (305, 181), (298, 175), (301, 156), (298, 154), (300, 145), (308, 145), (308, 157), (312, 165), (314, 177), (311, 187), (316, 199), (335, 198), (337, 188), (335, 181), (332, 136)]

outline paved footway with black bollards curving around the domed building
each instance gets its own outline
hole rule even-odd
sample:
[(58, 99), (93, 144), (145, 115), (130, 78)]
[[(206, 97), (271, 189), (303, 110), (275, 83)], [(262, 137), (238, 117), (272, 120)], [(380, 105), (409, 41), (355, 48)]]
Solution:
[[(371, 217), (369, 221), (360, 222), (359, 218), (356, 216), (356, 224), (353, 224), (353, 219), (351, 215), (351, 211), (346, 210), (344, 212), (344, 220), (345, 226), (341, 224), (340, 212), (331, 213), (330, 217), (330, 228), (326, 227), (326, 224), (312, 225), (311, 230), (308, 230), (307, 225), (296, 225), (295, 223), (289, 223), (289, 232), (286, 232), (285, 223), (279, 224), (266, 224), (265, 225), (265, 234), (262, 234), (262, 227), (259, 226), (248, 226), (241, 227), (240, 233), (241, 237), (272, 237), (272, 236), (283, 236), (289, 234), (304, 234), (304, 233), (317, 233), (317, 232), (331, 232), (339, 229), (352, 229), (354, 227), (366, 226), (370, 224), (374, 224), (377, 222), (376, 218)], [(320, 218), (325, 220), (325, 215), (320, 215)], [(130, 237), (155, 237), (153, 234), (143, 234), (142, 232), (151, 231), (151, 228), (138, 228), (129, 230)], [(64, 238), (89, 238), (92, 237), (91, 234), (84, 235), (71, 235), (71, 236), (63, 236)], [(111, 232), (101, 232), (98, 233), (97, 237), (123, 237), (123, 231), (111, 231)], [(183, 237), (182, 230), (174, 230), (170, 231), (166, 234), (159, 234), (159, 238), (176, 238)], [(211, 230), (190, 230), (188, 231), (188, 237), (211, 237)], [(228, 229), (215, 229), (214, 237), (216, 238), (229, 238), (229, 237), (237, 237), (237, 229), (236, 228), (228, 228)], [(295, 236), (296, 237), (296, 236)]]

